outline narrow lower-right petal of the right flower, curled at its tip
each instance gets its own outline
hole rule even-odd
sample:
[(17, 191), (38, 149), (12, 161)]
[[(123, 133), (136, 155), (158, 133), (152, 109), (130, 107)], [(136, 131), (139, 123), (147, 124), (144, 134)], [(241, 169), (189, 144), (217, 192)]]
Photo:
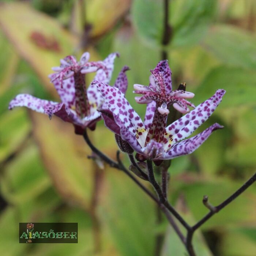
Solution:
[(173, 146), (166, 153), (159, 155), (157, 159), (173, 159), (181, 155), (188, 155), (193, 153), (203, 142), (205, 142), (211, 133), (217, 129), (222, 129), (223, 126), (215, 123), (205, 129), (203, 132), (193, 136), (192, 138), (182, 140), (181, 142), (173, 144)]

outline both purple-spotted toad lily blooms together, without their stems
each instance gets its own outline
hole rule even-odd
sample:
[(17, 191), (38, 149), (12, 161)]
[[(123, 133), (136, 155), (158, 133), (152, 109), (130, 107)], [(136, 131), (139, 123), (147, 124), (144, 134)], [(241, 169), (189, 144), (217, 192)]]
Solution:
[[(214, 112), (222, 100), (225, 90), (216, 93), (195, 107), (187, 99), (194, 94), (184, 90), (172, 90), (172, 72), (166, 60), (160, 61), (151, 70), (149, 85), (134, 84), (133, 91), (142, 94), (135, 97), (136, 102), (146, 103), (144, 122), (125, 98), (127, 77), (124, 67), (114, 86), (109, 86), (114, 59), (117, 53), (110, 54), (105, 60), (89, 62), (90, 55), (84, 53), (80, 61), (74, 56), (61, 60), (60, 67), (53, 68), (56, 73), (50, 79), (59, 93), (61, 103), (35, 98), (29, 94), (17, 95), (9, 105), (26, 106), (37, 112), (56, 115), (64, 121), (73, 123), (76, 133), (82, 134), (86, 127), (95, 128), (103, 118), (106, 127), (116, 134), (118, 143), (128, 145), (129, 153), (135, 150), (144, 161), (172, 159), (190, 154), (196, 150), (216, 130), (223, 128), (215, 123), (192, 138), (190, 136)], [(97, 72), (93, 82), (86, 88), (84, 75)], [(169, 108), (173, 106), (184, 114), (167, 126)], [(190, 110), (192, 108), (192, 110)]]

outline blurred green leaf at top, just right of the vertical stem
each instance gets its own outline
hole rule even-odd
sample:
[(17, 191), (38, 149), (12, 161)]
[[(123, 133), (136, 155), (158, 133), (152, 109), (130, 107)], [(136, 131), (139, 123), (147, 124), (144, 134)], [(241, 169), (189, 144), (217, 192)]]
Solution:
[(216, 11), (214, 0), (170, 1), (171, 46), (191, 46), (206, 34)]

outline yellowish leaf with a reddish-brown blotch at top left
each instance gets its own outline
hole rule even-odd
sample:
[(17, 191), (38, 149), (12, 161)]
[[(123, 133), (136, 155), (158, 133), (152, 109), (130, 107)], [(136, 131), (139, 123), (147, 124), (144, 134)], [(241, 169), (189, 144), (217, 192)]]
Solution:
[[(24, 2), (2, 3), (0, 26), (20, 56), (33, 66), (47, 89), (56, 94), (48, 75), (52, 73), (52, 67), (59, 65), (61, 58), (74, 51), (77, 38), (67, 33), (56, 20)], [(45, 42), (55, 42), (56, 49), (46, 46)]]

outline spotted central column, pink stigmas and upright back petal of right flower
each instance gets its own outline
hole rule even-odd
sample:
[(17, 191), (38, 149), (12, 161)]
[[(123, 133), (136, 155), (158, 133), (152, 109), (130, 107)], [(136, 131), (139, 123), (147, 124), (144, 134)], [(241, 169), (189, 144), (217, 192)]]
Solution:
[(173, 104), (173, 107), (181, 113), (189, 112), (188, 106), (195, 108), (192, 103), (185, 100), (185, 98), (193, 98), (195, 94), (183, 90), (172, 91), (172, 72), (167, 60), (160, 61), (155, 69), (151, 70), (151, 74), (149, 86), (135, 84), (133, 91), (143, 94), (142, 97), (135, 97), (137, 103), (148, 103), (144, 120), (145, 127), (148, 128), (147, 142), (151, 139), (163, 140), (162, 131), (166, 127), (170, 105)]

